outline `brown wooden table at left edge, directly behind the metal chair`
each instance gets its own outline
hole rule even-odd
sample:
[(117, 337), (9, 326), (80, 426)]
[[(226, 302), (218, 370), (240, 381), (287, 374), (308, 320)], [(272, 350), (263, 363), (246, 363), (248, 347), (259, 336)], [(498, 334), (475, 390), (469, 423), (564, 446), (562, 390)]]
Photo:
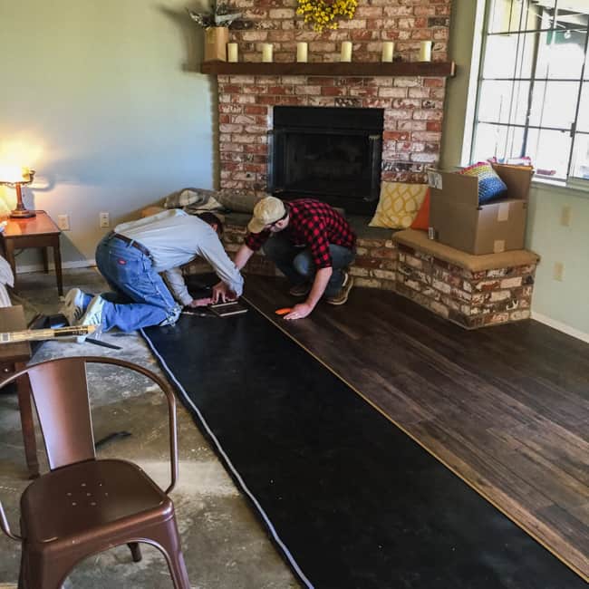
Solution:
[[(24, 310), (20, 305), (0, 307), (0, 325), (3, 332), (20, 332), (26, 329)], [(22, 370), (31, 359), (31, 344), (28, 342), (0, 344), (0, 379)], [(39, 476), (37, 444), (34, 439), (33, 406), (29, 377), (23, 376), (16, 383), (18, 408), (23, 428), (24, 456), (31, 478)]]

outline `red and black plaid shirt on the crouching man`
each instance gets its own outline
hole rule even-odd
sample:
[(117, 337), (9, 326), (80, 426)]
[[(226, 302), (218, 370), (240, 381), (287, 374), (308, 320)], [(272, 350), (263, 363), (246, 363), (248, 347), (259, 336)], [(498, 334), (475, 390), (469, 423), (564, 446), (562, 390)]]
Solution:
[[(311, 249), (314, 265), (317, 268), (332, 266), (329, 244), (353, 248), (356, 236), (350, 224), (332, 207), (314, 198), (298, 198), (285, 203), (290, 216), (286, 237), (295, 246)], [(264, 245), (271, 233), (268, 229), (261, 233), (249, 233), (246, 246), (256, 251)]]

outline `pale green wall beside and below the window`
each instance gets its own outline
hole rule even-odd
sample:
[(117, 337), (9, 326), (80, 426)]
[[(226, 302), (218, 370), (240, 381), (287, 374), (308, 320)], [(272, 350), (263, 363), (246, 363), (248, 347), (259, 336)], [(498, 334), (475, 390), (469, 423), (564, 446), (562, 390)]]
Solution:
[[(457, 76), (448, 82), (441, 166), (452, 169), (462, 160), (463, 137), (468, 133), (468, 78), (475, 31), (478, 0), (454, 0), (449, 54), (457, 63)], [(571, 223), (560, 223), (563, 207), (571, 209)], [(550, 188), (534, 183), (530, 192), (526, 247), (541, 256), (536, 271), (532, 304), (536, 319), (589, 342), (589, 193), (569, 188)], [(554, 279), (555, 263), (564, 265), (563, 281)]]

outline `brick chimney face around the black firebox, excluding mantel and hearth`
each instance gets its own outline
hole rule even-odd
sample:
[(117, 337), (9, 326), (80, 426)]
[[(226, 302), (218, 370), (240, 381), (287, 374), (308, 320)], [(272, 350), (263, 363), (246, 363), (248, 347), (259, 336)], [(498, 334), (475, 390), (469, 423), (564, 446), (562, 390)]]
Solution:
[[(381, 43), (395, 42), (403, 62), (418, 59), (420, 42), (433, 42), (434, 62), (448, 60), (451, 0), (360, 0), (352, 20), (315, 33), (295, 14), (295, 0), (235, 0), (242, 29), (230, 31), (240, 60), (261, 61), (261, 44), (273, 43), (275, 62), (294, 63), (296, 43), (309, 43), (310, 63), (339, 62), (342, 41), (352, 41), (354, 63), (377, 63)], [(353, 70), (351, 70), (353, 72)], [(218, 81), (221, 188), (267, 190), (268, 131), (275, 106), (382, 109), (381, 179), (425, 181), (439, 160), (446, 79), (419, 75), (239, 75)]]

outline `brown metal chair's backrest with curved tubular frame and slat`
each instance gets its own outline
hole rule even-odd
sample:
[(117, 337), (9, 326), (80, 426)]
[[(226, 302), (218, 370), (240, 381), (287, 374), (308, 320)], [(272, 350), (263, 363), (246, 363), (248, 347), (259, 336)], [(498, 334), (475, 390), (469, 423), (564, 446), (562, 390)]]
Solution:
[(14, 372), (0, 388), (28, 374), (37, 410), (49, 468), (61, 468), (75, 462), (95, 459), (94, 439), (86, 364), (114, 364), (143, 374), (155, 382), (168, 401), (170, 484), (168, 494), (178, 478), (178, 427), (176, 399), (168, 382), (138, 364), (106, 356), (78, 356), (49, 360)]

